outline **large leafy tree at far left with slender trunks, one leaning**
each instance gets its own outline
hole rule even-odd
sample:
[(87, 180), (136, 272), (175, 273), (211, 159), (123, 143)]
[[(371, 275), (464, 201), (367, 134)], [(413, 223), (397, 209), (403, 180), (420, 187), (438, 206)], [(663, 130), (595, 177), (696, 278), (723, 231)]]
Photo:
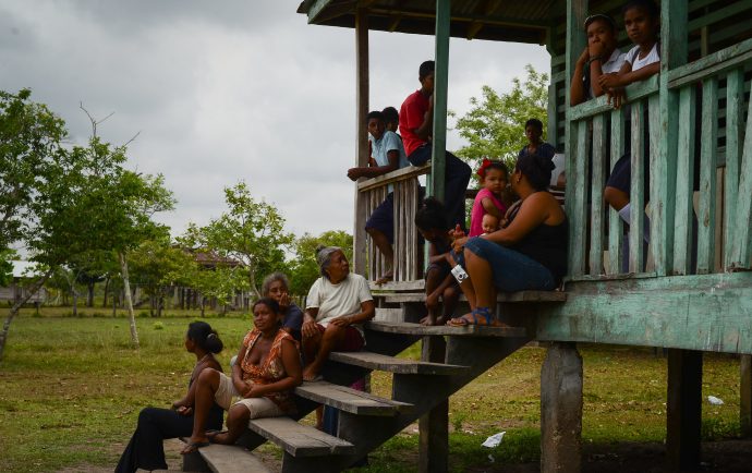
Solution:
[[(128, 288), (126, 253), (165, 228), (151, 221), (156, 211), (171, 209), (174, 201), (161, 175), (143, 175), (126, 170), (125, 146), (113, 147), (96, 135), (88, 146), (50, 146), (45, 166), (34, 180), (21, 238), (32, 260), (44, 274), (28, 288), (27, 298), (11, 307), (0, 333), (0, 357), (10, 325), (21, 306), (45, 283), (56, 268), (69, 265), (87, 252), (116, 252)], [(14, 210), (17, 211), (17, 210)], [(133, 308), (131, 336), (138, 347)]]

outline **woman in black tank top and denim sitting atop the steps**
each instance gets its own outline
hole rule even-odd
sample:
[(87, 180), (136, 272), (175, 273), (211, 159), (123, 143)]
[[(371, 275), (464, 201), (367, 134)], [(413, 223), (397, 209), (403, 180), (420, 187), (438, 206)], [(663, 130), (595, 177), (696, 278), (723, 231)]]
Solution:
[[(537, 155), (521, 156), (511, 175), (521, 204), (507, 213), (507, 226), (468, 239), (457, 235), (452, 274), (471, 313), (450, 325), (501, 325), (495, 318), (496, 292), (554, 290), (567, 272), (568, 225), (559, 203), (547, 192), (554, 163)], [(464, 268), (464, 270), (462, 270)]]

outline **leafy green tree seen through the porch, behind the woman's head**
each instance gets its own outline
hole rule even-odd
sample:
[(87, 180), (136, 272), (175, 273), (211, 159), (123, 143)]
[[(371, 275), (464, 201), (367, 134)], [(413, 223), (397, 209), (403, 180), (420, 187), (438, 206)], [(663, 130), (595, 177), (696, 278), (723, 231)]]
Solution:
[(470, 144), (457, 151), (466, 160), (502, 159), (511, 167), (519, 150), (527, 143), (525, 122), (537, 118), (546, 130), (548, 105), (548, 74), (525, 66), (525, 82), (512, 80), (512, 89), (499, 95), (484, 85), (482, 98), (472, 97), (471, 110), (457, 120), (460, 136)]

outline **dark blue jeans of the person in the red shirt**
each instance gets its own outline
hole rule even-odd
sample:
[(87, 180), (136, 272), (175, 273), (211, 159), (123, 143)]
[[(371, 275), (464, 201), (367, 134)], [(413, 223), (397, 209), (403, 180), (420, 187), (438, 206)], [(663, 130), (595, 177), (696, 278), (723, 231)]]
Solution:
[[(423, 166), (430, 159), (432, 146), (426, 143), (412, 151), (408, 160), (414, 166)], [(444, 207), (447, 209), (447, 220), (454, 227), (460, 225), (466, 231), (464, 213), (464, 191), (470, 182), (472, 170), (466, 162), (447, 151), (444, 171)]]

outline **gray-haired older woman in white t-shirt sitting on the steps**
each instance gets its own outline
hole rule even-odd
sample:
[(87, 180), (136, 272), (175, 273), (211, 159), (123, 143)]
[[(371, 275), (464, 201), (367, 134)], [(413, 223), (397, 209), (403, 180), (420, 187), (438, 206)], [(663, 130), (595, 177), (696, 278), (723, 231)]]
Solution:
[(319, 247), (316, 262), (322, 277), (308, 291), (302, 327), (306, 381), (322, 378), (319, 372), (332, 351), (361, 350), (363, 323), (375, 314), (368, 281), (350, 272), (342, 248)]

